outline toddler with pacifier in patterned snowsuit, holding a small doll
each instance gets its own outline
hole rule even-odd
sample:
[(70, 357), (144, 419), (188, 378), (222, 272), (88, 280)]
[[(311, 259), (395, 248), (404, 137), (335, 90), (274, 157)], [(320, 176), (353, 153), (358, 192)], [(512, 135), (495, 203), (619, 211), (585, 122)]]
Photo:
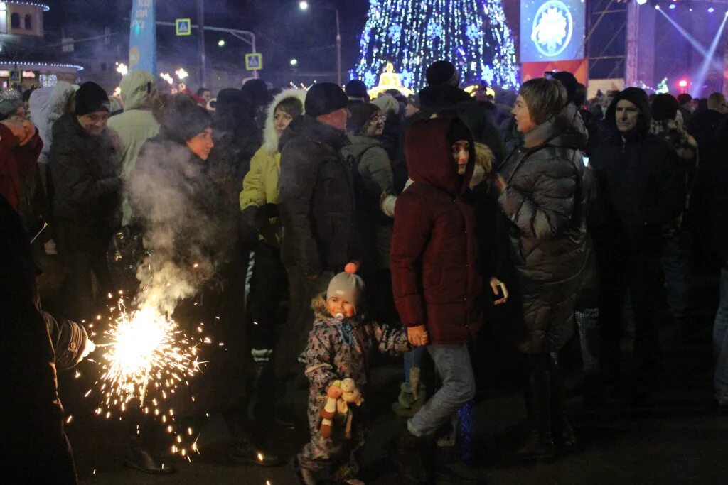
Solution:
[[(364, 281), (347, 265), (328, 290), (312, 302), (314, 325), (306, 348), (311, 441), (294, 465), (303, 484), (331, 476), (337, 483), (360, 484), (355, 454), (365, 442), (360, 406), (368, 382), (368, 353), (412, 350), (407, 329), (368, 321), (362, 313)], [(426, 341), (425, 341), (426, 343)]]

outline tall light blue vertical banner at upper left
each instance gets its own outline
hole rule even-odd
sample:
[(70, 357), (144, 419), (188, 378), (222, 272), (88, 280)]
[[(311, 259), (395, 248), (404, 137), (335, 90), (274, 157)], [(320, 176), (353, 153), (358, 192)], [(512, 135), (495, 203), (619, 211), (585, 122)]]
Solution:
[(134, 0), (129, 32), (129, 70), (157, 76), (157, 0)]

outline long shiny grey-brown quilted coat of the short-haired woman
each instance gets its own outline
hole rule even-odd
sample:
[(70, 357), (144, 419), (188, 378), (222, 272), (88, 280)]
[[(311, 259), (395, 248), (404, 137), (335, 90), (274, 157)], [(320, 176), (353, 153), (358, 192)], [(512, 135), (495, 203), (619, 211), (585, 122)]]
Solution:
[(524, 353), (559, 350), (574, 332), (574, 297), (586, 261), (587, 190), (579, 150), (587, 133), (573, 105), (524, 136), (500, 175), (498, 199), (523, 296)]

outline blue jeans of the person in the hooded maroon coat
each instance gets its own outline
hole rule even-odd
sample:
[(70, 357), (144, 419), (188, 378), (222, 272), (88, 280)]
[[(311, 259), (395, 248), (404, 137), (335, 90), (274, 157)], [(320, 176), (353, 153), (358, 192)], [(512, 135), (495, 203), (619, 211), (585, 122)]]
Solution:
[(429, 345), (427, 352), (443, 385), (408, 420), (407, 428), (414, 436), (429, 436), (448, 422), (456, 426), (458, 410), (475, 398), (475, 376), (466, 344)]

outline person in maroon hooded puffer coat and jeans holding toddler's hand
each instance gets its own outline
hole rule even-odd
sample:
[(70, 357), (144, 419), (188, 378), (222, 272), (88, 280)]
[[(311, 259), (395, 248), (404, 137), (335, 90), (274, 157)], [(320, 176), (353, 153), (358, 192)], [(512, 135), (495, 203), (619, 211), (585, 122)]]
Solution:
[[(427, 482), (427, 438), (475, 396), (467, 342), (480, 329), (481, 281), (475, 214), (464, 199), (475, 145), (459, 119), (419, 121), (405, 143), (414, 183), (397, 199), (392, 237), (392, 286), (413, 345), (429, 337), (442, 387), (407, 423), (395, 446), (403, 478)], [(493, 281), (493, 280), (491, 280)], [(495, 280), (497, 281), (497, 280)]]

